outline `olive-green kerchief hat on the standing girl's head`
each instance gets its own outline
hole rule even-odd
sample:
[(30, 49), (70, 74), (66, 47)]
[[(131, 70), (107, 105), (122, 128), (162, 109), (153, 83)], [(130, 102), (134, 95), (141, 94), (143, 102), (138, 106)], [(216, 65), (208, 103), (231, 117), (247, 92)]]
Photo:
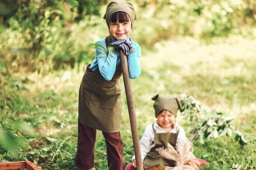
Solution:
[(134, 20), (137, 20), (137, 16), (135, 14), (135, 10), (133, 5), (130, 2), (116, 2), (113, 1), (108, 4), (106, 9), (106, 14), (104, 15), (104, 19), (106, 20), (106, 23), (109, 28), (109, 19), (111, 15), (117, 11), (123, 11), (129, 15), (131, 18), (131, 25), (133, 26)]

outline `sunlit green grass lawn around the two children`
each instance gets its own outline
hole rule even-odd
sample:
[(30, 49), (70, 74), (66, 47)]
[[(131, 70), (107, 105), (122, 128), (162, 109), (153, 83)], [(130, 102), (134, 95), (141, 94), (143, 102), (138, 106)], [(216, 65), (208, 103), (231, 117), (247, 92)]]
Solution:
[[(242, 147), (234, 136), (205, 140), (205, 144), (195, 139), (195, 156), (210, 163), (209, 168), (202, 170), (256, 169), (253, 41), (230, 37), (204, 45), (184, 37), (157, 45), (159, 51), (144, 51), (143, 72), (131, 80), (140, 137), (155, 119), (152, 96), (159, 92), (186, 93), (201, 101), (204, 109), (233, 116), (232, 124), (248, 141)], [(0, 161), (29, 160), (44, 170), (77, 169), (73, 158), (77, 144), (78, 92), (84, 74), (77, 70), (84, 66), (52, 71), (45, 76), (23, 72), (0, 77), (0, 125), (22, 141), (16, 158), (6, 149), (9, 145), (0, 147)], [(123, 82), (121, 87), (120, 131), (127, 164), (133, 155), (133, 143)], [(177, 122), (188, 130), (189, 124), (181, 116)], [(105, 139), (100, 131), (97, 131), (95, 150), (95, 170), (107, 170)]]

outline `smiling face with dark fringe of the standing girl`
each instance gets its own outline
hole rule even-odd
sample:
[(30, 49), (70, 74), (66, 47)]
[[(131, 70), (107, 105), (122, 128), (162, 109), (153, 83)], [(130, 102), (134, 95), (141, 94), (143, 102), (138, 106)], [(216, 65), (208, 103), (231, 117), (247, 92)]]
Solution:
[(131, 34), (131, 22), (129, 15), (120, 11), (112, 14), (109, 32), (116, 40), (127, 39)]

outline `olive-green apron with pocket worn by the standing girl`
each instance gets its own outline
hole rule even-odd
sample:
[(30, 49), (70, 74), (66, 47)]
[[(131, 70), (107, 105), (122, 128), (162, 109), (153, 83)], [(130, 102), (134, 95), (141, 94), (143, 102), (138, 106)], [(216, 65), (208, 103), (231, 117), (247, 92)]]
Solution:
[[(111, 37), (105, 39), (107, 48)], [(121, 126), (121, 65), (111, 81), (103, 79), (99, 68), (87, 66), (79, 90), (79, 120), (86, 126), (105, 132), (118, 132)]]

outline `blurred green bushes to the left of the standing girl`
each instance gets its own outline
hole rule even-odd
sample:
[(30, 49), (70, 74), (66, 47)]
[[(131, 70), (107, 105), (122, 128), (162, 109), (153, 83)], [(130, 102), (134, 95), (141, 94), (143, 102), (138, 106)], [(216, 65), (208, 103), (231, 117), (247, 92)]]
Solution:
[[(88, 4), (90, 0), (81, 6), (76, 0), (17, 2), (20, 7), (6, 19), (8, 28), (0, 35), (2, 67), (7, 73), (24, 67), (44, 72), (87, 63), (94, 51), (92, 42), (98, 39), (93, 31), (88, 33), (99, 23), (99, 4)], [(86, 15), (74, 22), (78, 8)]]

